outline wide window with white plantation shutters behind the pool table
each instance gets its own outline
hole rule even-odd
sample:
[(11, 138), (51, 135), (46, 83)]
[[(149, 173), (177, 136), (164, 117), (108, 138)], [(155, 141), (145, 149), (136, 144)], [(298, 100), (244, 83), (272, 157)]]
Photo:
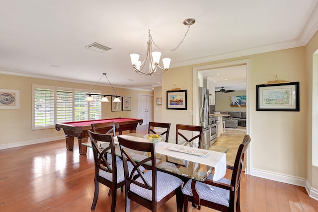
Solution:
[[(56, 122), (101, 119), (98, 95), (95, 102), (85, 102), (87, 91), (32, 85), (32, 130), (54, 128)], [(96, 93), (99, 94), (99, 93)]]

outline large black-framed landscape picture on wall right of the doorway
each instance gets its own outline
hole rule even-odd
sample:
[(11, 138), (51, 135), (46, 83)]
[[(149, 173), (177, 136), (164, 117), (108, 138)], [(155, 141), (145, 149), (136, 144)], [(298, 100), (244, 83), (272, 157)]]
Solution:
[(256, 85), (257, 111), (299, 111), (299, 82)]

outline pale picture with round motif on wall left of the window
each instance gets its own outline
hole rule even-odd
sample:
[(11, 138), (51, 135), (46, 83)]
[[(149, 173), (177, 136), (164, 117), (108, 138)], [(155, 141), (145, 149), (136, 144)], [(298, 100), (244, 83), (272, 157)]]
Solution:
[(0, 89), (0, 109), (19, 109), (20, 91)]

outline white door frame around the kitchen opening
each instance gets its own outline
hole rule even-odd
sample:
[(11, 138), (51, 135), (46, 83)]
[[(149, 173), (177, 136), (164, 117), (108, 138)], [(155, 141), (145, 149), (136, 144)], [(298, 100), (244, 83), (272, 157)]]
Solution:
[[(211, 69), (219, 69), (225, 67), (233, 67), (233, 66), (241, 66), (246, 65), (246, 134), (250, 135), (250, 59), (238, 60), (238, 61), (231, 61), (225, 63), (218, 63), (213, 65), (207, 66), (199, 66), (193, 68), (193, 123), (194, 125), (199, 124), (199, 103), (197, 100), (198, 92), (199, 92), (199, 74), (202, 73), (201, 71), (211, 70)], [(251, 161), (251, 148), (252, 146), (249, 145), (249, 148), (246, 151), (246, 174), (250, 174), (250, 161)]]

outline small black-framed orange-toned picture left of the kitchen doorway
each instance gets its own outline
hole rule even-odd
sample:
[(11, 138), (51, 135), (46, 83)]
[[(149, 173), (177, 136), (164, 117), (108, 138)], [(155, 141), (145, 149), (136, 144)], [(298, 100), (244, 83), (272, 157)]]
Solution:
[(167, 91), (167, 109), (186, 110), (187, 109), (188, 90), (168, 90)]

